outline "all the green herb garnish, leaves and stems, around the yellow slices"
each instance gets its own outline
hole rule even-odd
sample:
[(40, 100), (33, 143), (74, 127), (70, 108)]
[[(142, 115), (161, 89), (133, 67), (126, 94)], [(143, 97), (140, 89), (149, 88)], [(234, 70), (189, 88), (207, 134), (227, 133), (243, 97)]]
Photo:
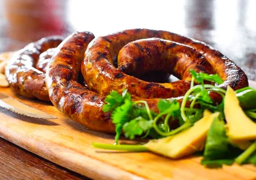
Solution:
[[(221, 167), (223, 164), (231, 165), (252, 163), (256, 165), (256, 141), (246, 149), (234, 147), (226, 135), (225, 115), (223, 112), (224, 102), (216, 104), (209, 96), (209, 92), (218, 93), (224, 97), (226, 91), (212, 84), (223, 83), (217, 74), (206, 74), (190, 70), (192, 74), (191, 88), (185, 93), (181, 106), (175, 99), (160, 99), (157, 107), (158, 113), (150, 110), (146, 101), (132, 101), (131, 95), (124, 90), (122, 95), (112, 91), (105, 99), (104, 112), (111, 112), (112, 122), (116, 125), (115, 142), (123, 131), (125, 137), (134, 139), (136, 136), (160, 138), (174, 135), (192, 126), (203, 116), (203, 111), (208, 109), (212, 112), (220, 112), (218, 118), (212, 122), (207, 134), (207, 140), (201, 164), (210, 168)], [(194, 81), (197, 85), (194, 86)], [(240, 105), (244, 108), (246, 115), (256, 120), (255, 104), (248, 105), (248, 99), (255, 98), (256, 89), (243, 88), (236, 91)], [(180, 126), (174, 129), (170, 127), (172, 120), (178, 120)], [(94, 147), (102, 149), (148, 151), (143, 145), (109, 145), (93, 143)]]

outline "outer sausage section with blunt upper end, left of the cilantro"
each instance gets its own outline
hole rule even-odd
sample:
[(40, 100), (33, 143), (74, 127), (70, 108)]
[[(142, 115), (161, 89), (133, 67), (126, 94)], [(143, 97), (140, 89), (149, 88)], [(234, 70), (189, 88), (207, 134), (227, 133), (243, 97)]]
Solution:
[[(50, 100), (59, 111), (90, 129), (113, 133), (115, 127), (110, 114), (102, 111), (105, 96), (77, 80), (84, 51), (93, 38), (90, 32), (75, 32), (60, 44), (46, 70), (46, 86)], [(157, 111), (158, 99), (147, 99), (147, 102)]]

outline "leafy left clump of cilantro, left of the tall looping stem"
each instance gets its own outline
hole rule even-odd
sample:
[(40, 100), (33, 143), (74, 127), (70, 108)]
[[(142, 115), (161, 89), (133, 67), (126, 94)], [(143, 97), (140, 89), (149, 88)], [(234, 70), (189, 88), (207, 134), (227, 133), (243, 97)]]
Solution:
[[(185, 124), (175, 130), (169, 127), (170, 119), (182, 120), (180, 115), (180, 104), (177, 100), (162, 100), (158, 102), (159, 114), (151, 112), (146, 101), (138, 100), (132, 102), (131, 95), (124, 90), (122, 95), (116, 91), (110, 92), (105, 99), (104, 112), (112, 112), (111, 119), (116, 126), (115, 143), (118, 143), (121, 132), (125, 137), (134, 139), (136, 135), (147, 135), (158, 133), (163, 137), (176, 134), (186, 129), (191, 124)], [(118, 106), (116, 106), (118, 104)], [(154, 137), (156, 137), (154, 135)]]

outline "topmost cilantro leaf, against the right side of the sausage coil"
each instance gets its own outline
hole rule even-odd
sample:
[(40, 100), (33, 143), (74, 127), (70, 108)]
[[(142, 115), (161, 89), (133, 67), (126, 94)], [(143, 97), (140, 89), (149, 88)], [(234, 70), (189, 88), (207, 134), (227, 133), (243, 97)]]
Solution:
[(223, 80), (219, 77), (218, 74), (207, 74), (202, 72), (197, 73), (193, 69), (190, 69), (189, 72), (192, 74), (195, 80), (200, 84), (204, 84), (204, 81), (210, 81), (217, 84), (223, 83)]

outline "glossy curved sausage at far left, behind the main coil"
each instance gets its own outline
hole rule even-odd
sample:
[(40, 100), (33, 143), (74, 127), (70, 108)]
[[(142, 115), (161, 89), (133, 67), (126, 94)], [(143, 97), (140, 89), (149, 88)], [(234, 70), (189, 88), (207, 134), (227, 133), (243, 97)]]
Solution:
[(5, 76), (12, 91), (22, 96), (49, 101), (45, 73), (34, 66), (41, 53), (57, 47), (62, 41), (63, 38), (59, 36), (46, 37), (19, 50), (5, 67)]

